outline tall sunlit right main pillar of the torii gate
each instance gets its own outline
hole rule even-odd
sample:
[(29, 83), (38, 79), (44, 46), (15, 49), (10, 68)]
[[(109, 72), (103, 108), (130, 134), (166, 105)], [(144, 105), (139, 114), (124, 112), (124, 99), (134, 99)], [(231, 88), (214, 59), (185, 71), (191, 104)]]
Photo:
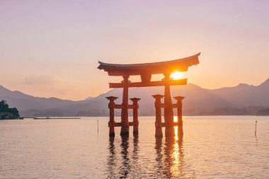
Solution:
[(165, 86), (164, 86), (164, 122), (166, 122), (165, 135), (166, 137), (174, 136), (173, 129), (173, 103), (170, 93), (170, 74), (164, 74)]

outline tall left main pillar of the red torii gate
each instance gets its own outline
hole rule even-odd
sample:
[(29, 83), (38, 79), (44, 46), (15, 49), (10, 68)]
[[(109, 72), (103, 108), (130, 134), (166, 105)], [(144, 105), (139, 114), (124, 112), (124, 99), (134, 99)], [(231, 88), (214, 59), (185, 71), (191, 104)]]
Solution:
[(122, 112), (121, 112), (121, 122), (122, 127), (120, 129), (121, 136), (129, 136), (129, 121), (128, 121), (128, 83), (129, 76), (123, 77), (123, 93), (122, 93)]

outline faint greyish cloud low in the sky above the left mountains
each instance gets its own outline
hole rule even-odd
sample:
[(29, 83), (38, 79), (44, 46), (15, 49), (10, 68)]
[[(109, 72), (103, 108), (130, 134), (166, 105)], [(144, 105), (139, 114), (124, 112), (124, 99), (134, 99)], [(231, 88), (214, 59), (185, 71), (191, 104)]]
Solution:
[(49, 75), (31, 75), (25, 77), (23, 83), (33, 86), (47, 86), (55, 84), (56, 80), (53, 76)]

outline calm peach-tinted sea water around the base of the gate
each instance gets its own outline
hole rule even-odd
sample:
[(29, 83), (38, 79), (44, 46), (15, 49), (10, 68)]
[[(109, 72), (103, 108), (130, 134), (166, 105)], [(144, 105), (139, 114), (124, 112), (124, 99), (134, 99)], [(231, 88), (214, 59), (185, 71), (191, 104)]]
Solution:
[(140, 117), (139, 137), (109, 139), (108, 117), (2, 120), (0, 178), (269, 178), (269, 117), (183, 125), (183, 139), (155, 139), (154, 117)]

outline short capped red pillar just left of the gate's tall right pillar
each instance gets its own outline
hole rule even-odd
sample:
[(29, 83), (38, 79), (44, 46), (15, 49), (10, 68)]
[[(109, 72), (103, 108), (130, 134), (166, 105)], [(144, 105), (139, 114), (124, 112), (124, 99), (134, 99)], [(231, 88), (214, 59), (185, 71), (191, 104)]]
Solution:
[(156, 121), (155, 121), (155, 137), (163, 137), (163, 132), (161, 130), (161, 98), (163, 95), (154, 95), (152, 96), (155, 99), (155, 112), (156, 112)]

